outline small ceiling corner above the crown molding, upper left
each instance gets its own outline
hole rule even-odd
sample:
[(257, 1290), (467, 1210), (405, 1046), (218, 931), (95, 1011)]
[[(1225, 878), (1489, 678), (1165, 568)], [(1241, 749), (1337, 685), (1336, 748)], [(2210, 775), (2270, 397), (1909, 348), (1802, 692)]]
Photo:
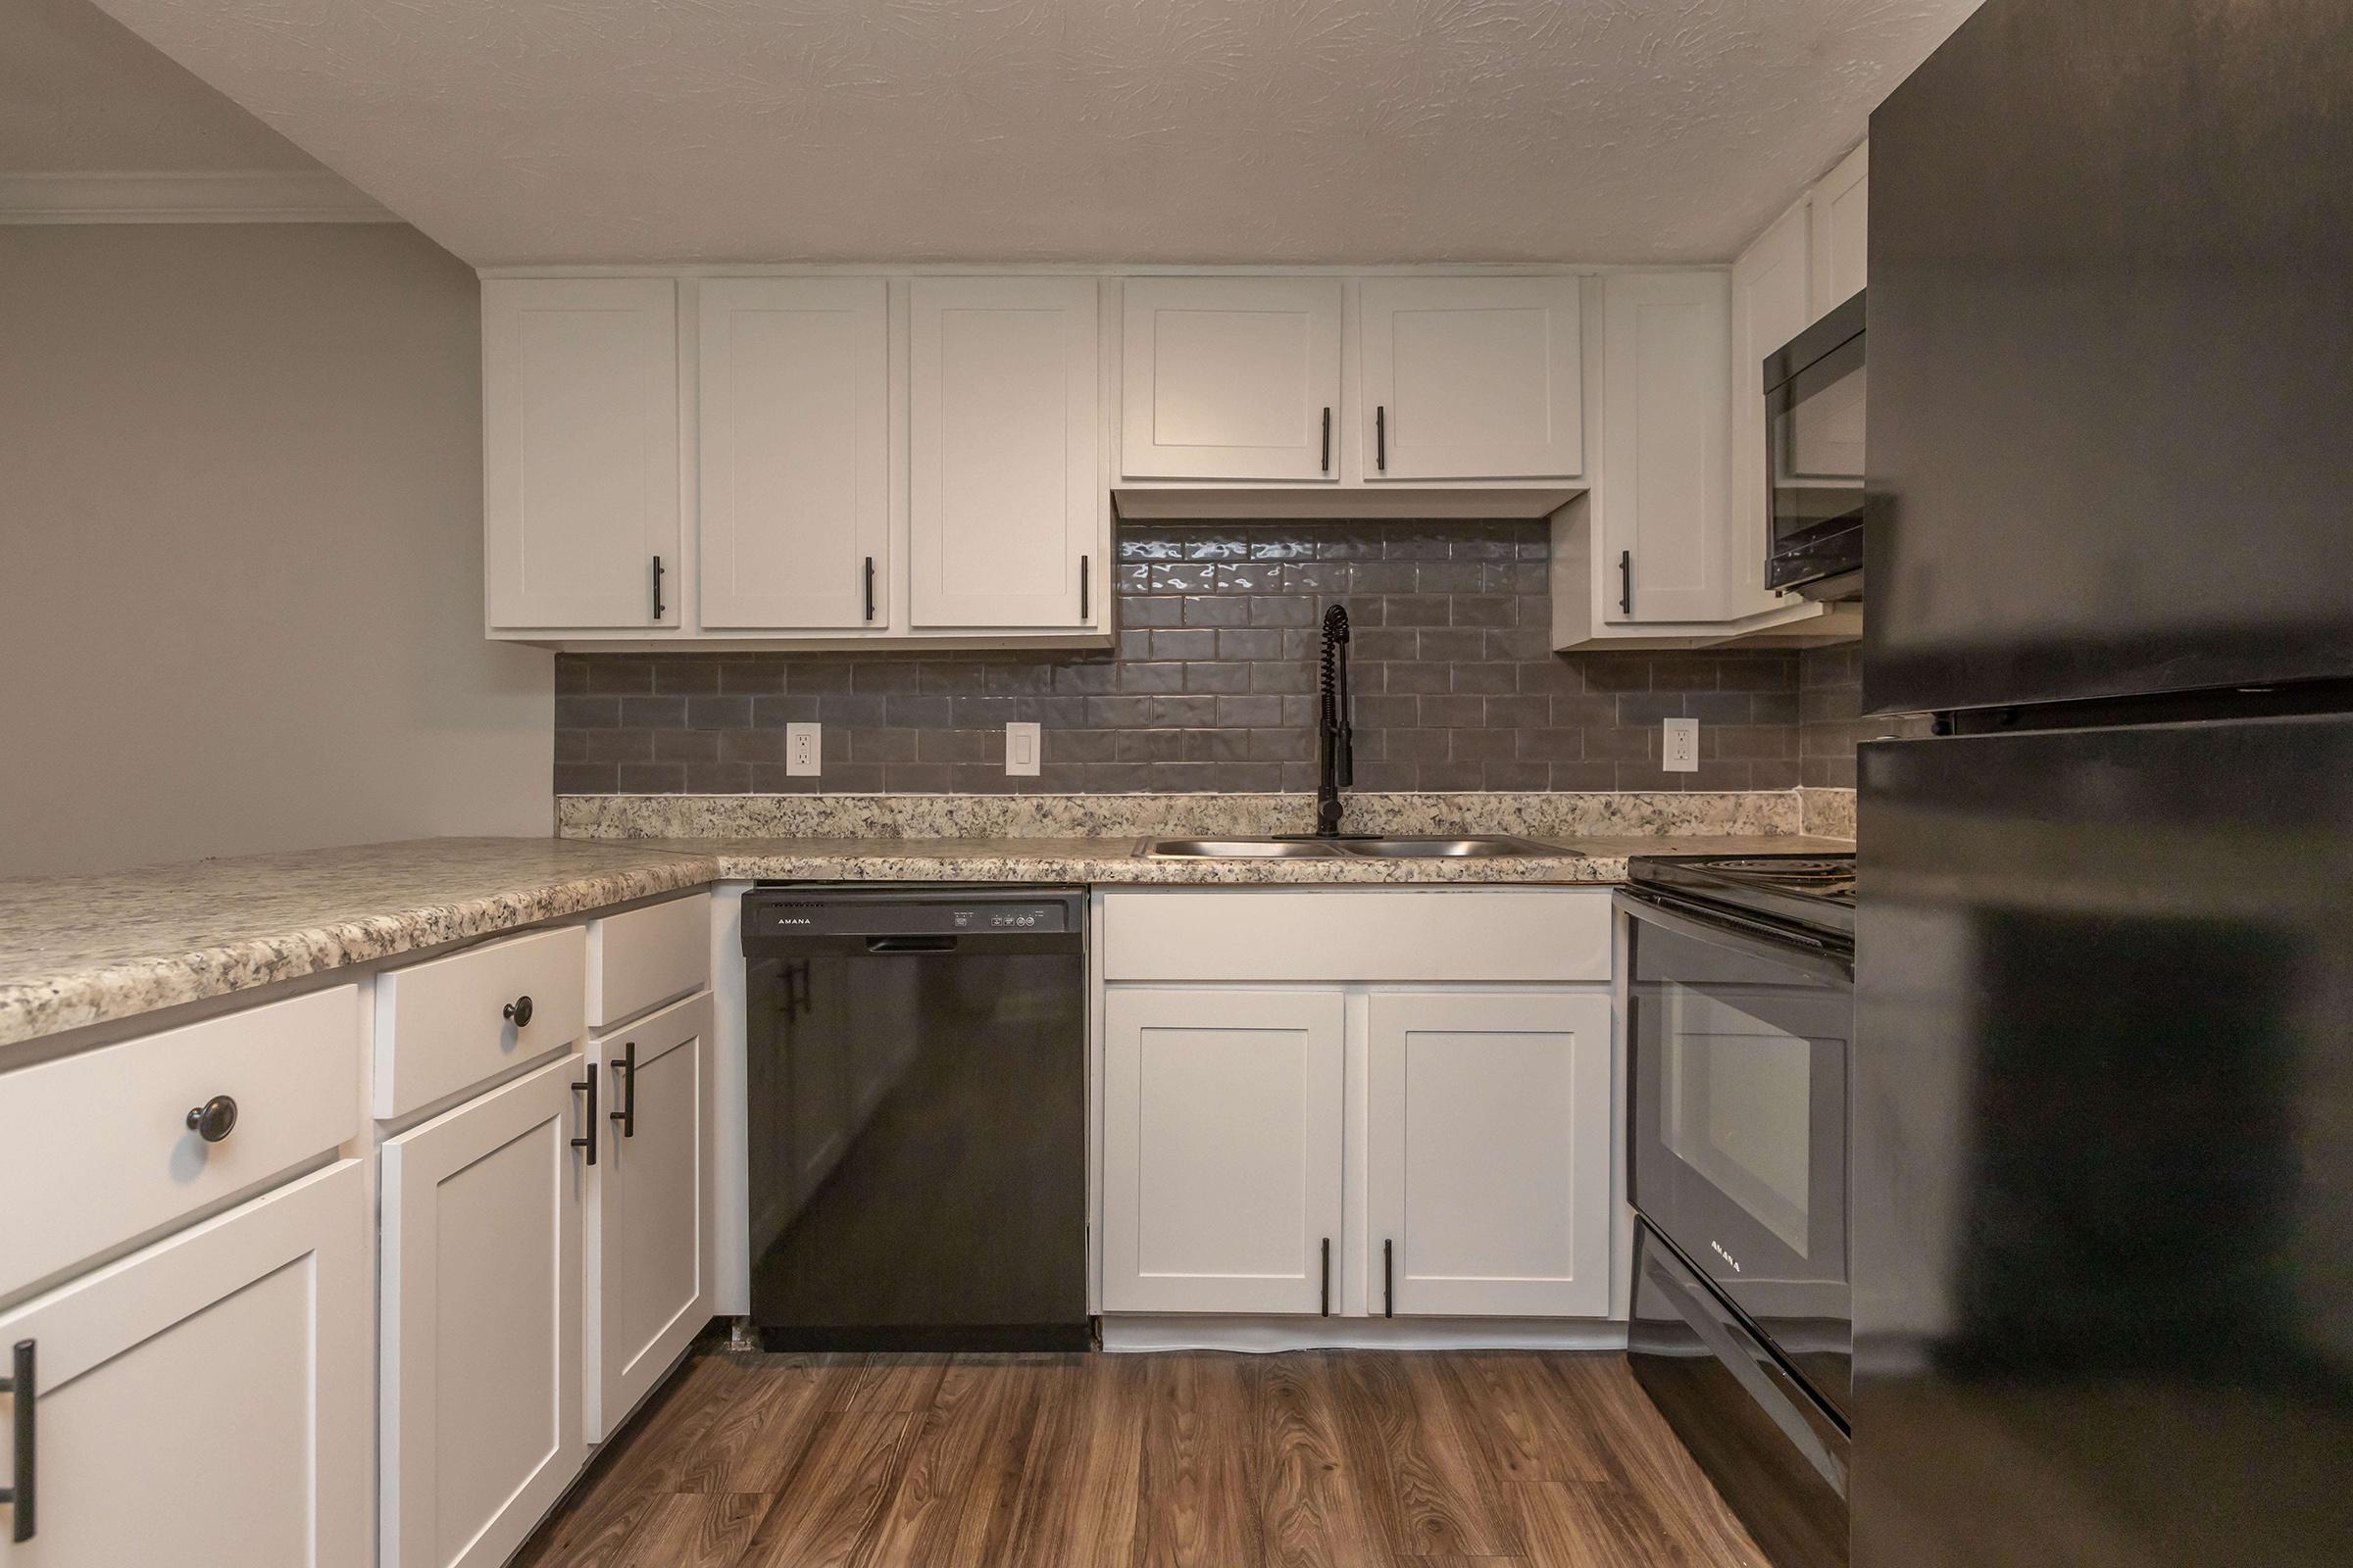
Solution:
[(0, 0), (0, 172), (231, 169), (318, 162), (89, 0)]

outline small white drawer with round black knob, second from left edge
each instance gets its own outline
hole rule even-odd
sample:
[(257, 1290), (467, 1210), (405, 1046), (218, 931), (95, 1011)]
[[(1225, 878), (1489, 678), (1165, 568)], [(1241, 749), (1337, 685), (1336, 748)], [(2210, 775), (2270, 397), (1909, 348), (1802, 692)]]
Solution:
[[(588, 1027), (588, 933), (532, 931), (376, 980), (376, 1114), (402, 1117)], [(522, 1013), (529, 999), (529, 1023)]]

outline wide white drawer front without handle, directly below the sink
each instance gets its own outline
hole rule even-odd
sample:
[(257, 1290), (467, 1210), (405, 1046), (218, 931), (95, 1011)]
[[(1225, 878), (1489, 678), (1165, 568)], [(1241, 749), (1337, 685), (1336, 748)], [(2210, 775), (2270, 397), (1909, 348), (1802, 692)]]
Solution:
[(1106, 980), (1607, 980), (1607, 889), (1104, 896)]

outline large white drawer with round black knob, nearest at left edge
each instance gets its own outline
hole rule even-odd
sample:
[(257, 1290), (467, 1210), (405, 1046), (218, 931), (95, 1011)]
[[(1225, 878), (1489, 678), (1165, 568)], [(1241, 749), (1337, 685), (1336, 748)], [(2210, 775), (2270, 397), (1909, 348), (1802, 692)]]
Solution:
[[(358, 1088), (353, 985), (0, 1074), (0, 1295), (334, 1150)], [(205, 1143), (214, 1095), (238, 1117)]]

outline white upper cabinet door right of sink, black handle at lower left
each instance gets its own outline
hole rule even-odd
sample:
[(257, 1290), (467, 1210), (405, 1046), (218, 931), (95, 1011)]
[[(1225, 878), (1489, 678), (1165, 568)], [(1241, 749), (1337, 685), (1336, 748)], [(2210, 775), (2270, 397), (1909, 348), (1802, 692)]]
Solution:
[(1593, 505), (1607, 621), (1725, 616), (1729, 301), (1725, 273), (1602, 280), (1602, 465)]

